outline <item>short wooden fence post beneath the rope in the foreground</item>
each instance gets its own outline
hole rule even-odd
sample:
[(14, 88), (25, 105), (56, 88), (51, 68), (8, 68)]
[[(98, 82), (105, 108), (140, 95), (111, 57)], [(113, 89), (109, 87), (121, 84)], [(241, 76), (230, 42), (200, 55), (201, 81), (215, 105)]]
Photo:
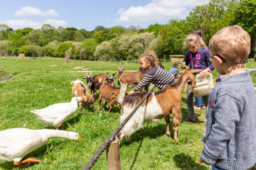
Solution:
[(116, 138), (106, 148), (108, 170), (121, 170), (119, 140)]

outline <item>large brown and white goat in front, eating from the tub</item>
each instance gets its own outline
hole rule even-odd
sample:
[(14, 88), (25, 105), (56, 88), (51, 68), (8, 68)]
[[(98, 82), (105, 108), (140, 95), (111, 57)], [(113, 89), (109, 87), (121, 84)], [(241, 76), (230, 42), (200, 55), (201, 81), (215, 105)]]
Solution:
[[(130, 136), (142, 127), (145, 121), (158, 121), (165, 119), (167, 130), (166, 135), (171, 136), (170, 132), (170, 113), (173, 115), (174, 140), (178, 140), (178, 125), (182, 118), (182, 91), (188, 83), (192, 88), (196, 85), (195, 77), (199, 69), (187, 69), (182, 71), (180, 78), (172, 85), (167, 85), (159, 91), (151, 92), (148, 98), (142, 103), (131, 119), (124, 125), (118, 133), (119, 141), (125, 136), (126, 140), (130, 140)], [(192, 88), (189, 88), (191, 90)], [(137, 92), (131, 95), (119, 96), (123, 115), (120, 116), (120, 122), (132, 112), (132, 110), (144, 98), (146, 92)]]

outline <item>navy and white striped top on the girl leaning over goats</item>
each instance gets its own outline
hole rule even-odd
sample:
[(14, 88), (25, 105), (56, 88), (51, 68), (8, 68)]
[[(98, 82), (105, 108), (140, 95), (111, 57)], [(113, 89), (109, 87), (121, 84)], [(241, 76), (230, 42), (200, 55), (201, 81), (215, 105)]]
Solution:
[(143, 86), (147, 85), (148, 83), (153, 83), (159, 89), (164, 88), (166, 85), (170, 85), (175, 82), (174, 77), (161, 69), (160, 67), (151, 67), (148, 72), (145, 74), (145, 77), (140, 81), (138, 85), (134, 88), (134, 92), (139, 91)]

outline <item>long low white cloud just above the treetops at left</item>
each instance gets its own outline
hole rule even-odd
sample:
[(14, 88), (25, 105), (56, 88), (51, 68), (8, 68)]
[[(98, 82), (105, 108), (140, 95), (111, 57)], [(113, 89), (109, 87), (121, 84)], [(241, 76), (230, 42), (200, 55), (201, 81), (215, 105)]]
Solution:
[(38, 29), (41, 28), (42, 25), (44, 24), (50, 24), (51, 26), (54, 26), (55, 28), (57, 28), (58, 26), (62, 26), (62, 27), (66, 27), (67, 22), (64, 20), (52, 20), (52, 19), (48, 19), (42, 22), (37, 22), (37, 21), (33, 21), (33, 20), (7, 20), (3, 22), (4, 24), (7, 24), (8, 26), (10, 26), (11, 28), (13, 28), (14, 30), (16, 29), (23, 29), (25, 27), (30, 27), (33, 29)]

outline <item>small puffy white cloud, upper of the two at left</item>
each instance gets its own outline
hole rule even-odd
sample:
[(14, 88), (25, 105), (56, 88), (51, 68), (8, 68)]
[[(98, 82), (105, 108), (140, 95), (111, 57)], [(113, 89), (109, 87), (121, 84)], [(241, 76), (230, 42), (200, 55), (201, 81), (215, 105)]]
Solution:
[(25, 16), (58, 16), (58, 13), (54, 9), (42, 12), (39, 8), (34, 8), (32, 6), (22, 6), (20, 10), (14, 12), (15, 16), (25, 17)]

